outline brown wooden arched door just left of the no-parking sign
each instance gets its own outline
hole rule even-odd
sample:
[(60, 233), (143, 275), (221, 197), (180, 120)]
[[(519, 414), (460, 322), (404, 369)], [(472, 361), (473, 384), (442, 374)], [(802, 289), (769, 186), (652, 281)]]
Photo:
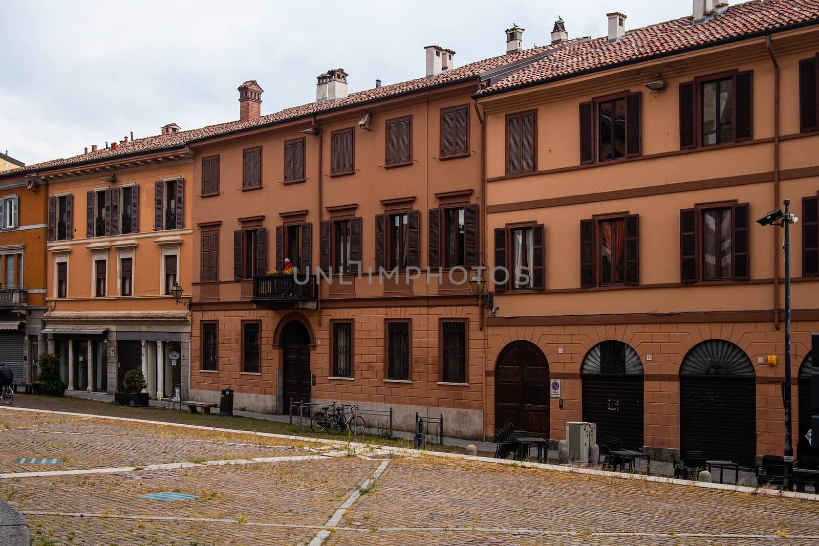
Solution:
[(495, 364), (495, 429), (507, 422), (549, 438), (549, 363), (529, 341), (506, 345)]

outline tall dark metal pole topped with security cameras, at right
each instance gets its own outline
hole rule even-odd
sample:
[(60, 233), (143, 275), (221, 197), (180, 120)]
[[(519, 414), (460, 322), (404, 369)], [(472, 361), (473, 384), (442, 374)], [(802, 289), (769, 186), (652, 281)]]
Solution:
[[(790, 213), (790, 199), (785, 199), (785, 212), (781, 209), (771, 210), (757, 220), (761, 226), (779, 226), (785, 228), (785, 382), (782, 383), (782, 404), (785, 406), (785, 488), (794, 487), (794, 444), (791, 440), (791, 411), (790, 411), (790, 224), (799, 222), (799, 219)], [(778, 275), (779, 272), (774, 272)]]

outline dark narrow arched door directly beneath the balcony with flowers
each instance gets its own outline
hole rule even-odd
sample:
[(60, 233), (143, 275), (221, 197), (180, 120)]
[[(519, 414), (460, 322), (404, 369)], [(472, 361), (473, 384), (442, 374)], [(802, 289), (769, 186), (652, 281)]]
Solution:
[(310, 402), (310, 332), (299, 320), (287, 323), (279, 336), (282, 346), (284, 411), (290, 412), (291, 401)]

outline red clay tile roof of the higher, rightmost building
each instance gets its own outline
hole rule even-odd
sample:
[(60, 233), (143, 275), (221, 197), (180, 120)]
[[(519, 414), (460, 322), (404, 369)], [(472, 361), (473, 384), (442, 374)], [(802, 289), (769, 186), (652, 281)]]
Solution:
[(694, 17), (687, 16), (632, 30), (613, 43), (603, 37), (570, 44), (493, 83), (482, 94), (500, 93), (799, 24), (819, 24), (819, 0), (746, 2), (728, 7), (696, 25)]

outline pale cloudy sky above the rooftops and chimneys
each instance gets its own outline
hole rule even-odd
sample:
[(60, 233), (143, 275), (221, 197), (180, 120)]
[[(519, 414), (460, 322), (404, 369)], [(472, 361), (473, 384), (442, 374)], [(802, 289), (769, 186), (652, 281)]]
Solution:
[(691, 0), (0, 0), (0, 151), (33, 164), (170, 122), (236, 120), (247, 79), (269, 114), (315, 100), (328, 68), (360, 91), (423, 76), (426, 45), (454, 49), (459, 66), (504, 53), (513, 23), (532, 47), (557, 16), (570, 37), (602, 36), (611, 11), (636, 29), (689, 15)]

